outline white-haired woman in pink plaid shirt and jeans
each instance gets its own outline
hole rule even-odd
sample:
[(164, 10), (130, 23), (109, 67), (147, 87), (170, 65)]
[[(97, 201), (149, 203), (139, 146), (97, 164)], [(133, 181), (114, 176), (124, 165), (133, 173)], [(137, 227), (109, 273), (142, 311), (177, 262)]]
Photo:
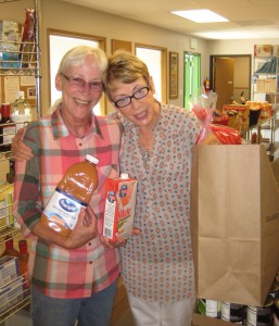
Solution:
[[(78, 325), (110, 324), (118, 250), (104, 248), (99, 234), (104, 180), (119, 173), (122, 125), (92, 111), (102, 96), (106, 63), (104, 52), (90, 47), (64, 55), (55, 77), (62, 100), (53, 113), (27, 126), (24, 143), (31, 159), (16, 162), (13, 212), (24, 236), (31, 238), (28, 273), (35, 326), (74, 326), (76, 319)], [(99, 159), (99, 186), (74, 230), (63, 237), (40, 222), (41, 212), (66, 168), (86, 154)]]

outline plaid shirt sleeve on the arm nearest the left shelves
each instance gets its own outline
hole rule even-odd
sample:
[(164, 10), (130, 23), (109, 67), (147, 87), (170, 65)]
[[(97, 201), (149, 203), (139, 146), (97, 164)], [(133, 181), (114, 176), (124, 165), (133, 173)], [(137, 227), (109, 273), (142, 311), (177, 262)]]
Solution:
[(33, 149), (34, 158), (29, 161), (15, 163), (13, 214), (29, 236), (41, 215), (40, 199), (40, 136), (38, 128), (28, 128), (24, 142)]

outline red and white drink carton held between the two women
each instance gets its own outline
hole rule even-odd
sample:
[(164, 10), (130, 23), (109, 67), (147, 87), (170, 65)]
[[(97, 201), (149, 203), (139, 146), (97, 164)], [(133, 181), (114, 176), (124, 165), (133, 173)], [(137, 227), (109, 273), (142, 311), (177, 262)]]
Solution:
[(106, 200), (103, 235), (112, 241), (117, 237), (127, 239), (134, 229), (138, 180), (126, 173), (106, 179)]

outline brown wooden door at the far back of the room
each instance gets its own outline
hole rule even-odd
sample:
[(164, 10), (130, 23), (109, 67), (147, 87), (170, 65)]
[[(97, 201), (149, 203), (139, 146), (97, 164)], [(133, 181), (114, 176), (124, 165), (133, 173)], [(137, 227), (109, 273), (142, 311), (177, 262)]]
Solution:
[(214, 90), (217, 92), (216, 109), (221, 110), (225, 104), (231, 104), (233, 100), (233, 59), (215, 58)]

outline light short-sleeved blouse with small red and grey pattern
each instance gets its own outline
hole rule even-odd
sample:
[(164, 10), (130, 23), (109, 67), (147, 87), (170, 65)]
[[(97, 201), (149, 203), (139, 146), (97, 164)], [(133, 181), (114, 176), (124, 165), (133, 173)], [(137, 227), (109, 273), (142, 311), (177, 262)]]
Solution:
[(193, 297), (190, 171), (200, 125), (189, 110), (162, 104), (153, 153), (144, 164), (138, 127), (123, 123), (121, 170), (139, 179), (135, 226), (141, 229), (121, 249), (125, 286), (158, 303)]

